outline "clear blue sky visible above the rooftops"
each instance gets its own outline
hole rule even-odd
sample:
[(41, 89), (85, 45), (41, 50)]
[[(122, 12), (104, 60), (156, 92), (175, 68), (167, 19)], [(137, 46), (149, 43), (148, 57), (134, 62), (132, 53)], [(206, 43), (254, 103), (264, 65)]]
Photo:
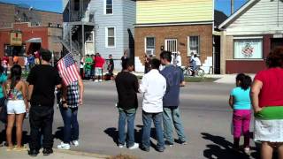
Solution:
[[(9, 4), (28, 4), (43, 11), (62, 12), (62, 0), (0, 0), (0, 2)], [(234, 0), (235, 11), (246, 2), (247, 0)], [(230, 15), (230, 0), (215, 0), (215, 8), (219, 11), (225, 12), (226, 15)]]

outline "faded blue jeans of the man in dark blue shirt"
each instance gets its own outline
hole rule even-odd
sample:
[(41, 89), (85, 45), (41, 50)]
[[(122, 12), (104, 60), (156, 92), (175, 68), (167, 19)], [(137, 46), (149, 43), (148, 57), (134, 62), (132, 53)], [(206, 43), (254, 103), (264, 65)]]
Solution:
[(180, 119), (180, 111), (177, 109), (164, 108), (163, 112), (163, 123), (164, 123), (164, 138), (170, 144), (173, 144), (173, 133), (172, 125), (176, 129), (180, 141), (186, 141), (184, 127)]

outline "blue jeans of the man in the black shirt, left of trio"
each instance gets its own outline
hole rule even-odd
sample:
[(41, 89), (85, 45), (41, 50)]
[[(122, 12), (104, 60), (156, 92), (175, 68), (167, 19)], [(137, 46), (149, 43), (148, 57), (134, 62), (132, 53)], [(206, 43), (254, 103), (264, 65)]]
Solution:
[(134, 113), (127, 113), (125, 110), (119, 110), (119, 145), (124, 145), (126, 140), (125, 125), (127, 122), (127, 144), (126, 146), (132, 147), (134, 145)]

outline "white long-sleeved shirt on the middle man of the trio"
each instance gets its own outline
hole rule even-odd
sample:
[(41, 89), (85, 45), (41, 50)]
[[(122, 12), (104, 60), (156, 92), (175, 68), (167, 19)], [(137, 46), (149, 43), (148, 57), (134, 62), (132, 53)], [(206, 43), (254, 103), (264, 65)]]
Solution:
[(139, 90), (143, 93), (142, 110), (148, 113), (163, 112), (166, 79), (158, 70), (150, 70), (142, 77)]

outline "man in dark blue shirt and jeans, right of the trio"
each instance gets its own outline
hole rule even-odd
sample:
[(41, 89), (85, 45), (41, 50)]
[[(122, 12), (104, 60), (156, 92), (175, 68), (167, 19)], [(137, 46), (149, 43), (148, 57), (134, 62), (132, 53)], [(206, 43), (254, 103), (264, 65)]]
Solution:
[(174, 125), (179, 137), (180, 144), (186, 145), (186, 136), (184, 127), (180, 119), (180, 87), (185, 86), (184, 75), (180, 67), (171, 64), (172, 53), (169, 51), (163, 51), (160, 54), (161, 64), (165, 65), (161, 74), (164, 76), (167, 82), (166, 93), (163, 98), (163, 121), (164, 121), (164, 138), (166, 144), (172, 147), (173, 145), (173, 133), (172, 125)]

